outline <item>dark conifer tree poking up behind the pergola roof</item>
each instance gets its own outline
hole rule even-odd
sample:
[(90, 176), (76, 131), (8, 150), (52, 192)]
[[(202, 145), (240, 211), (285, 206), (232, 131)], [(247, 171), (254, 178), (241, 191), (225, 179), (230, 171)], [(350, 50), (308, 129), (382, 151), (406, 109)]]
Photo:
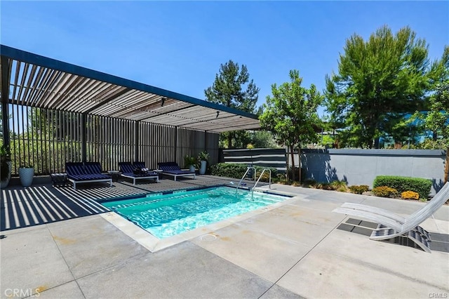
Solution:
[[(208, 87), (204, 94), (206, 100), (215, 102), (227, 107), (233, 107), (244, 112), (254, 113), (255, 104), (258, 99), (259, 88), (249, 79), (250, 74), (246, 65), (239, 67), (238, 63), (229, 60), (225, 65), (220, 65), (218, 74), (215, 74), (215, 81)], [(227, 148), (232, 148), (232, 140), (241, 145), (241, 138), (247, 138), (245, 134), (237, 135), (235, 131), (221, 133), (220, 140), (227, 140)], [(246, 144), (245, 144), (246, 147)]]

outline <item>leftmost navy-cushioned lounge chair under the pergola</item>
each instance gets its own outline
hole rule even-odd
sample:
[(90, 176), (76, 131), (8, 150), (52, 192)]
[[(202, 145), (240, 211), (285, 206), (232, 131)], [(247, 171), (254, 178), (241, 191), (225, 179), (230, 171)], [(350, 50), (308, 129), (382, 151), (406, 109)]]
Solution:
[(109, 175), (101, 173), (101, 165), (98, 162), (69, 163), (65, 164), (67, 178), (73, 183), (76, 190), (76, 184), (83, 182), (109, 182), (112, 187), (112, 178)]

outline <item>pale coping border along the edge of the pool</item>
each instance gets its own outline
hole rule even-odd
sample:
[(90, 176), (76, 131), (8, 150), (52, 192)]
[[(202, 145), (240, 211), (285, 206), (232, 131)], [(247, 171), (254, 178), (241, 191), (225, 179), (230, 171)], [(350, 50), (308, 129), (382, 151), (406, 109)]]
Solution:
[[(217, 186), (209, 186), (209, 187), (217, 187)], [(176, 190), (175, 190), (176, 191)], [(257, 208), (254, 211), (249, 211), (247, 213), (243, 213), (241, 215), (236, 215), (232, 218), (228, 218), (225, 220), (221, 220), (219, 222), (211, 223), (210, 225), (205, 225), (202, 227), (198, 227), (195, 230), (190, 230), (188, 232), (182, 232), (181, 234), (176, 234), (175, 236), (158, 239), (154, 237), (150, 232), (144, 230), (142, 227), (135, 225), (133, 222), (130, 222), (126, 218), (123, 218), (118, 213), (114, 211), (101, 213), (101, 217), (107, 220), (109, 223), (114, 225), (116, 228), (121, 230), (124, 234), (128, 235), (131, 239), (138, 242), (141, 246), (147, 248), (152, 253), (156, 251), (160, 251), (162, 249), (168, 248), (170, 246), (180, 244), (184, 241), (189, 241), (191, 239), (204, 236), (207, 239), (215, 239), (215, 234), (213, 233), (215, 230), (220, 230), (221, 228), (227, 227), (229, 225), (234, 225), (238, 222), (248, 220), (249, 218), (254, 217), (255, 215), (260, 215), (262, 213), (266, 213), (268, 211), (272, 211), (275, 208), (279, 208), (281, 206), (285, 206), (290, 204), (290, 202), (296, 201), (300, 197), (297, 194), (291, 194), (288, 192), (267, 192), (267, 190), (257, 190), (255, 191), (264, 192), (268, 194), (288, 196), (283, 201), (276, 202), (274, 204), (270, 204), (269, 206), (263, 206), (261, 208)], [(269, 190), (268, 190), (269, 191)]]

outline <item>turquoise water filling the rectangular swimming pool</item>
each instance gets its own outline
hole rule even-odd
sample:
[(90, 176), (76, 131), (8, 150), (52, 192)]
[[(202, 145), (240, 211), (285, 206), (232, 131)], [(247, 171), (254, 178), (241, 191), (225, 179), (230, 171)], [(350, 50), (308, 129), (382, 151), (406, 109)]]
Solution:
[(102, 202), (155, 237), (163, 239), (268, 206), (288, 197), (231, 187), (149, 194)]

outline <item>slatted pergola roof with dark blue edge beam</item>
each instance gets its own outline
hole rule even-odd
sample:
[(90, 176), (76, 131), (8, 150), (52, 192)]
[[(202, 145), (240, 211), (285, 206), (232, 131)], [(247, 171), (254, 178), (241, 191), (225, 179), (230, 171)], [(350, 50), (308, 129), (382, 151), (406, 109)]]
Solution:
[[(254, 114), (0, 45), (1, 105), (60, 109), (201, 131), (260, 128)], [(4, 96), (8, 95), (8, 96)]]

